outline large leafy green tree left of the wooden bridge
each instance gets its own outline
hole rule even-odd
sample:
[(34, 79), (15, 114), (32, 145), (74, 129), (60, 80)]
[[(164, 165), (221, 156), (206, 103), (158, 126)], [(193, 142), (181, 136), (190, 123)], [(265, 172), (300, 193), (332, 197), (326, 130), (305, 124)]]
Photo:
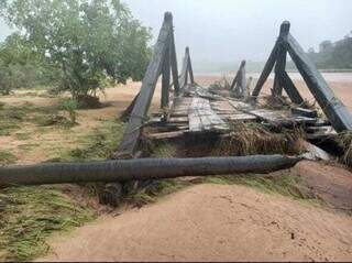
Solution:
[(139, 80), (147, 65), (150, 30), (119, 0), (9, 0), (2, 17), (31, 51), (58, 67), (59, 90), (96, 96), (107, 80)]

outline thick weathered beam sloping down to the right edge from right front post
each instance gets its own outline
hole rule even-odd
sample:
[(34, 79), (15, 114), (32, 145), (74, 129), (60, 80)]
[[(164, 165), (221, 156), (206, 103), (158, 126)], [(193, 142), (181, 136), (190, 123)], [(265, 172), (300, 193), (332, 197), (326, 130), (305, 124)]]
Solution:
[(352, 130), (352, 116), (348, 108), (336, 97), (299, 43), (290, 34), (286, 43), (297, 69), (336, 131)]

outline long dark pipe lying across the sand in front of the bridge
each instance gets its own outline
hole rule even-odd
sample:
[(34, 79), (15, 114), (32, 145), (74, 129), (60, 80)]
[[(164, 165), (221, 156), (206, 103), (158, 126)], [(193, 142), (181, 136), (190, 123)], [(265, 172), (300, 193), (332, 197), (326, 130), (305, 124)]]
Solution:
[(184, 176), (267, 174), (290, 168), (304, 157), (253, 155), (204, 158), (141, 158), (90, 163), (47, 163), (0, 167), (0, 186), (127, 182)]

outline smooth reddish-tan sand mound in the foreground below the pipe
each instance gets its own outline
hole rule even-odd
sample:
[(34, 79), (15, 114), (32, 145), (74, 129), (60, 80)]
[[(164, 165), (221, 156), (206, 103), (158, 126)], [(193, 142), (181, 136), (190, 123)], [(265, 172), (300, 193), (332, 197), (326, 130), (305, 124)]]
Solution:
[(41, 261), (351, 261), (352, 220), (246, 187), (199, 185), (52, 244)]

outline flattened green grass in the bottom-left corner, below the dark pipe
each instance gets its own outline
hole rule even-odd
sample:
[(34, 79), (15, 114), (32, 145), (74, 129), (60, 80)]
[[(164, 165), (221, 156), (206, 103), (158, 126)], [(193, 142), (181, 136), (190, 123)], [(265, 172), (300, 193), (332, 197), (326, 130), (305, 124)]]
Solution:
[(45, 240), (94, 220), (95, 212), (58, 190), (20, 187), (0, 190), (0, 260), (29, 261), (50, 251)]

